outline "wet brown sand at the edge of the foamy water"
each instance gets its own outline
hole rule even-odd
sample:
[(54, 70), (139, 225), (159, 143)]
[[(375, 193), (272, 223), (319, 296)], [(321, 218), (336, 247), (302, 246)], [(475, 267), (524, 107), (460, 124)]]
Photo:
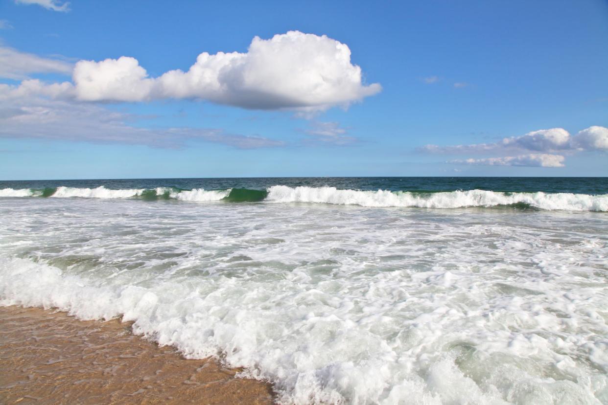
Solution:
[(272, 403), (269, 384), (215, 359), (184, 359), (130, 326), (0, 307), (0, 403)]

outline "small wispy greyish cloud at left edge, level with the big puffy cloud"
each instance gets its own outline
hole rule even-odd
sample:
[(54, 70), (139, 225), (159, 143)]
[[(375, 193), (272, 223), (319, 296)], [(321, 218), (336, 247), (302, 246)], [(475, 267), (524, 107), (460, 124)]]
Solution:
[(32, 53), (19, 52), (9, 47), (0, 47), (0, 77), (14, 80), (28, 78), (32, 73), (72, 72), (72, 65), (64, 61), (41, 58)]

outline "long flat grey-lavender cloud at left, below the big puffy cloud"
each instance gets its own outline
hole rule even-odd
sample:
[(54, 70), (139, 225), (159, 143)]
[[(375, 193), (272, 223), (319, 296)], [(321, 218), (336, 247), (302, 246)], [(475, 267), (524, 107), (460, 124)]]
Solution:
[[(72, 86), (70, 83), (64, 83)], [(45, 92), (64, 92), (53, 84), (44, 86), (30, 80), (19, 87), (0, 85), (0, 137), (44, 138), (95, 143), (126, 143), (157, 148), (181, 148), (188, 141), (221, 143), (237, 149), (283, 146), (282, 141), (259, 136), (230, 134), (213, 128), (149, 129), (133, 126), (130, 121), (141, 117), (109, 111), (92, 103), (40, 97), (40, 91), (28, 89), (42, 87)], [(36, 94), (36, 95), (33, 95)]]

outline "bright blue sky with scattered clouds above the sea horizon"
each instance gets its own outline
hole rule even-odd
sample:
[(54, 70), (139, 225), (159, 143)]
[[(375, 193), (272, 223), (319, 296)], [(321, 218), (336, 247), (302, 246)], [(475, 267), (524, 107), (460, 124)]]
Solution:
[(0, 0), (0, 180), (604, 177), (606, 44), (606, 0)]

